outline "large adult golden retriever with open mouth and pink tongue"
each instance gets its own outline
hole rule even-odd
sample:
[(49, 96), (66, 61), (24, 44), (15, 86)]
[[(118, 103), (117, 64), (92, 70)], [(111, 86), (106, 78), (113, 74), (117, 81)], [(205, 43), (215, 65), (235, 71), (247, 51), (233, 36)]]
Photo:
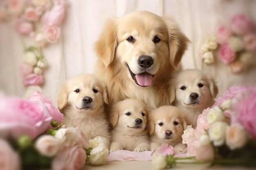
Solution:
[(168, 81), (188, 42), (171, 18), (148, 11), (108, 20), (95, 44), (94, 72), (107, 84), (110, 108), (126, 98), (150, 108), (169, 104)]

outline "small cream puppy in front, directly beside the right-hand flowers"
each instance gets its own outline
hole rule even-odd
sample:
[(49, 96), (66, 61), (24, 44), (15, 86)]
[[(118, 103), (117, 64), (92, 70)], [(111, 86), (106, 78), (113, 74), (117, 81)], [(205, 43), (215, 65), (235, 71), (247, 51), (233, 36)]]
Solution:
[(186, 129), (186, 118), (175, 106), (162, 106), (149, 114), (150, 150), (156, 150), (163, 144), (173, 146), (173, 150), (183, 152), (183, 131)]

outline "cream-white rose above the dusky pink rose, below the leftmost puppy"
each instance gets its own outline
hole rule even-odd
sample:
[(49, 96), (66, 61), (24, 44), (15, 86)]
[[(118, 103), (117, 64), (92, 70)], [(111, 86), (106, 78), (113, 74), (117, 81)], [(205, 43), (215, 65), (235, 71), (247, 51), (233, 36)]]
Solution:
[(64, 146), (73, 146), (78, 141), (78, 135), (74, 128), (59, 129), (56, 132), (55, 137), (60, 139), (61, 144)]

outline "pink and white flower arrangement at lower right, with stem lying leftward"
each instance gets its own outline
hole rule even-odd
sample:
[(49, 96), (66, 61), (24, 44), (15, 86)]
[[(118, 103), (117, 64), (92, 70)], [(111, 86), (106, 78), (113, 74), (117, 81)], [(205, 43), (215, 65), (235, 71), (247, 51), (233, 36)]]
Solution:
[[(182, 143), (186, 156), (156, 155), (158, 169), (175, 164), (211, 163), (256, 166), (256, 87), (234, 86), (198, 116), (196, 129), (187, 126)], [(186, 160), (186, 161), (182, 161)], [(157, 163), (154, 163), (157, 162)]]

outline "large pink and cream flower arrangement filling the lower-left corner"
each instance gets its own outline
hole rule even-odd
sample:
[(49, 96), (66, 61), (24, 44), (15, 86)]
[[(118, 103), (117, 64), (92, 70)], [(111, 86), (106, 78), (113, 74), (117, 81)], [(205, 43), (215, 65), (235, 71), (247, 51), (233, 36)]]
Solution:
[(86, 161), (106, 163), (109, 151), (101, 137), (88, 140), (79, 128), (64, 128), (63, 114), (39, 91), (29, 99), (0, 96), (0, 103), (1, 170), (79, 170)]

